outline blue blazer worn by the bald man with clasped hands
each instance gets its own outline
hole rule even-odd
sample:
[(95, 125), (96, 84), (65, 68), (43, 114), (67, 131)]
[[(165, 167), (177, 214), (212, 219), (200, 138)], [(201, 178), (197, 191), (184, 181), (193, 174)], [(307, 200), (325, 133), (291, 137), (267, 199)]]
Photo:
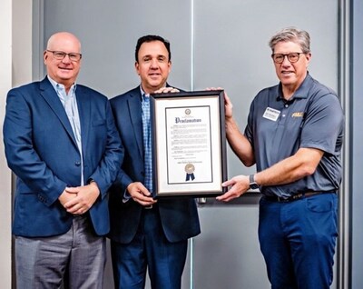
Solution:
[[(75, 91), (81, 121), (84, 182), (101, 194), (89, 211), (96, 234), (109, 232), (107, 191), (123, 159), (120, 136), (108, 99), (83, 85)], [(66, 186), (81, 185), (81, 154), (53, 85), (14, 88), (6, 100), (5, 155), (16, 174), (13, 234), (28, 237), (66, 233), (72, 214), (58, 201)]]

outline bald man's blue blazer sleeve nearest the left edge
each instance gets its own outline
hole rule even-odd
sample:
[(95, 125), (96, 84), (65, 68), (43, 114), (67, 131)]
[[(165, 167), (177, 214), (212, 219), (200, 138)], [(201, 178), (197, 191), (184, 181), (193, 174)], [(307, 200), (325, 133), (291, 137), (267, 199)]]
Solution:
[(66, 183), (57, 177), (34, 149), (31, 109), (22, 92), (9, 91), (4, 122), (5, 155), (9, 168), (50, 206), (64, 191)]

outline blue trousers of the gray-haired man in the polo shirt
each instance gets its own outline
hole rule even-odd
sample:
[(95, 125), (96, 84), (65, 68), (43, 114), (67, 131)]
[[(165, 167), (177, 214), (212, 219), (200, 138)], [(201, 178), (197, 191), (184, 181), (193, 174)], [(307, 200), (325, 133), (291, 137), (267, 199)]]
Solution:
[(260, 250), (273, 289), (329, 288), (337, 222), (337, 194), (316, 194), (289, 203), (260, 199)]

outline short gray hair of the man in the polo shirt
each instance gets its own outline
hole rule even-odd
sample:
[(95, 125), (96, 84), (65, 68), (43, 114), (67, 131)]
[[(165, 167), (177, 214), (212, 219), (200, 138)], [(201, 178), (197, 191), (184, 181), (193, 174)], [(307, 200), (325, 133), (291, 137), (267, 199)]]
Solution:
[(300, 45), (304, 54), (310, 53), (310, 35), (305, 30), (300, 30), (296, 27), (286, 27), (280, 30), (277, 34), (273, 35), (270, 39), (269, 45), (272, 53), (275, 50), (275, 45), (280, 42), (295, 42)]

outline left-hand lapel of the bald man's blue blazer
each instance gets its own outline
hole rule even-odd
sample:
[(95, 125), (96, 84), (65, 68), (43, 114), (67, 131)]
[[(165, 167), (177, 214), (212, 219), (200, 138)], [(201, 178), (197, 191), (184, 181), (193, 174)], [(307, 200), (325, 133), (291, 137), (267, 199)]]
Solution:
[(68, 116), (65, 113), (64, 106), (62, 105), (58, 95), (56, 94), (53, 85), (49, 82), (49, 80), (46, 77), (40, 83), (40, 91), (41, 91), (40, 95), (44, 97), (44, 100), (54, 111), (54, 114), (59, 118), (60, 122), (64, 126), (65, 131), (73, 140), (74, 145), (77, 146), (77, 143), (74, 138), (74, 132), (72, 130), (71, 124), (69, 123)]

